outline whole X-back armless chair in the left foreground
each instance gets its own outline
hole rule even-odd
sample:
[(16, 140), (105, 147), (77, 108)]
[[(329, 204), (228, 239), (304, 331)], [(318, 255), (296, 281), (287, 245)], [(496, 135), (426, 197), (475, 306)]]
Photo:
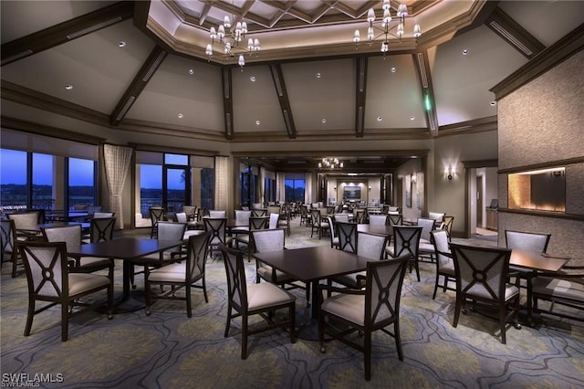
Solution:
[[(16, 247), (25, 264), (28, 284), (25, 336), (30, 335), (37, 313), (60, 304), (61, 342), (67, 342), (69, 319), (103, 303), (95, 300), (89, 304), (81, 298), (100, 290), (107, 292), (108, 319), (112, 318), (113, 280), (99, 274), (69, 272), (65, 242), (19, 242)], [(36, 309), (36, 301), (45, 301), (47, 305)], [(78, 307), (81, 310), (75, 310)]]

